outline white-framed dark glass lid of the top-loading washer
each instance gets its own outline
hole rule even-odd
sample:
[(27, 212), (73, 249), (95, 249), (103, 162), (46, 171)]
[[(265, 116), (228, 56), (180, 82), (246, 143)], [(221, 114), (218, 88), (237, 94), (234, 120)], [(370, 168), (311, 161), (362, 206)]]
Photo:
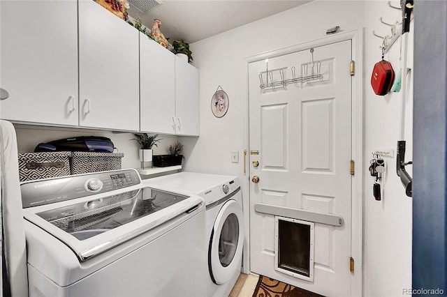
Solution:
[(196, 195), (133, 188), (24, 209), (24, 218), (59, 238), (85, 261), (203, 204)]

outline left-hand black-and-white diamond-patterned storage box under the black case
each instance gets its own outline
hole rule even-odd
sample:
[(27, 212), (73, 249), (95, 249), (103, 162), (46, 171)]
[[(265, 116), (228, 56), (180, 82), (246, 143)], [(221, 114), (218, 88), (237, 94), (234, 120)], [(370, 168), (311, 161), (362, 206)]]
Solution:
[(20, 153), (20, 181), (70, 175), (69, 151)]

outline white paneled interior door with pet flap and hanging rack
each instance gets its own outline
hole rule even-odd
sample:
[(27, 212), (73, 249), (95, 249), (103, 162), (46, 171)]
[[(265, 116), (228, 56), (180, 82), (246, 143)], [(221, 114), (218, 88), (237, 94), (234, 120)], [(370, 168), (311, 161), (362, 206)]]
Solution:
[[(350, 61), (347, 40), (249, 63), (251, 271), (325, 296), (351, 295)], [(315, 222), (312, 277), (275, 270), (275, 214)]]

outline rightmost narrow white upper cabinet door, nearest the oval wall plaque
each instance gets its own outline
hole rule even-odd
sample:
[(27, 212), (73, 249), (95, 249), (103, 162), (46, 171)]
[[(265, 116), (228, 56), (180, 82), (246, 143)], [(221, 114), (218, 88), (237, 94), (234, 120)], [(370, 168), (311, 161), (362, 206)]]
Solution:
[(199, 135), (198, 69), (175, 56), (177, 135)]

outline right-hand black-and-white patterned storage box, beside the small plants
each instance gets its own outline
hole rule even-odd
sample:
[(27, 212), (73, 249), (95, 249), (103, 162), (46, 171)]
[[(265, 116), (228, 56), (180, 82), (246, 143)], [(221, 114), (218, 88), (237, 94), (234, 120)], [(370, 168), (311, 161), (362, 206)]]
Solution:
[(121, 169), (124, 153), (90, 153), (75, 151), (71, 155), (71, 174)]

